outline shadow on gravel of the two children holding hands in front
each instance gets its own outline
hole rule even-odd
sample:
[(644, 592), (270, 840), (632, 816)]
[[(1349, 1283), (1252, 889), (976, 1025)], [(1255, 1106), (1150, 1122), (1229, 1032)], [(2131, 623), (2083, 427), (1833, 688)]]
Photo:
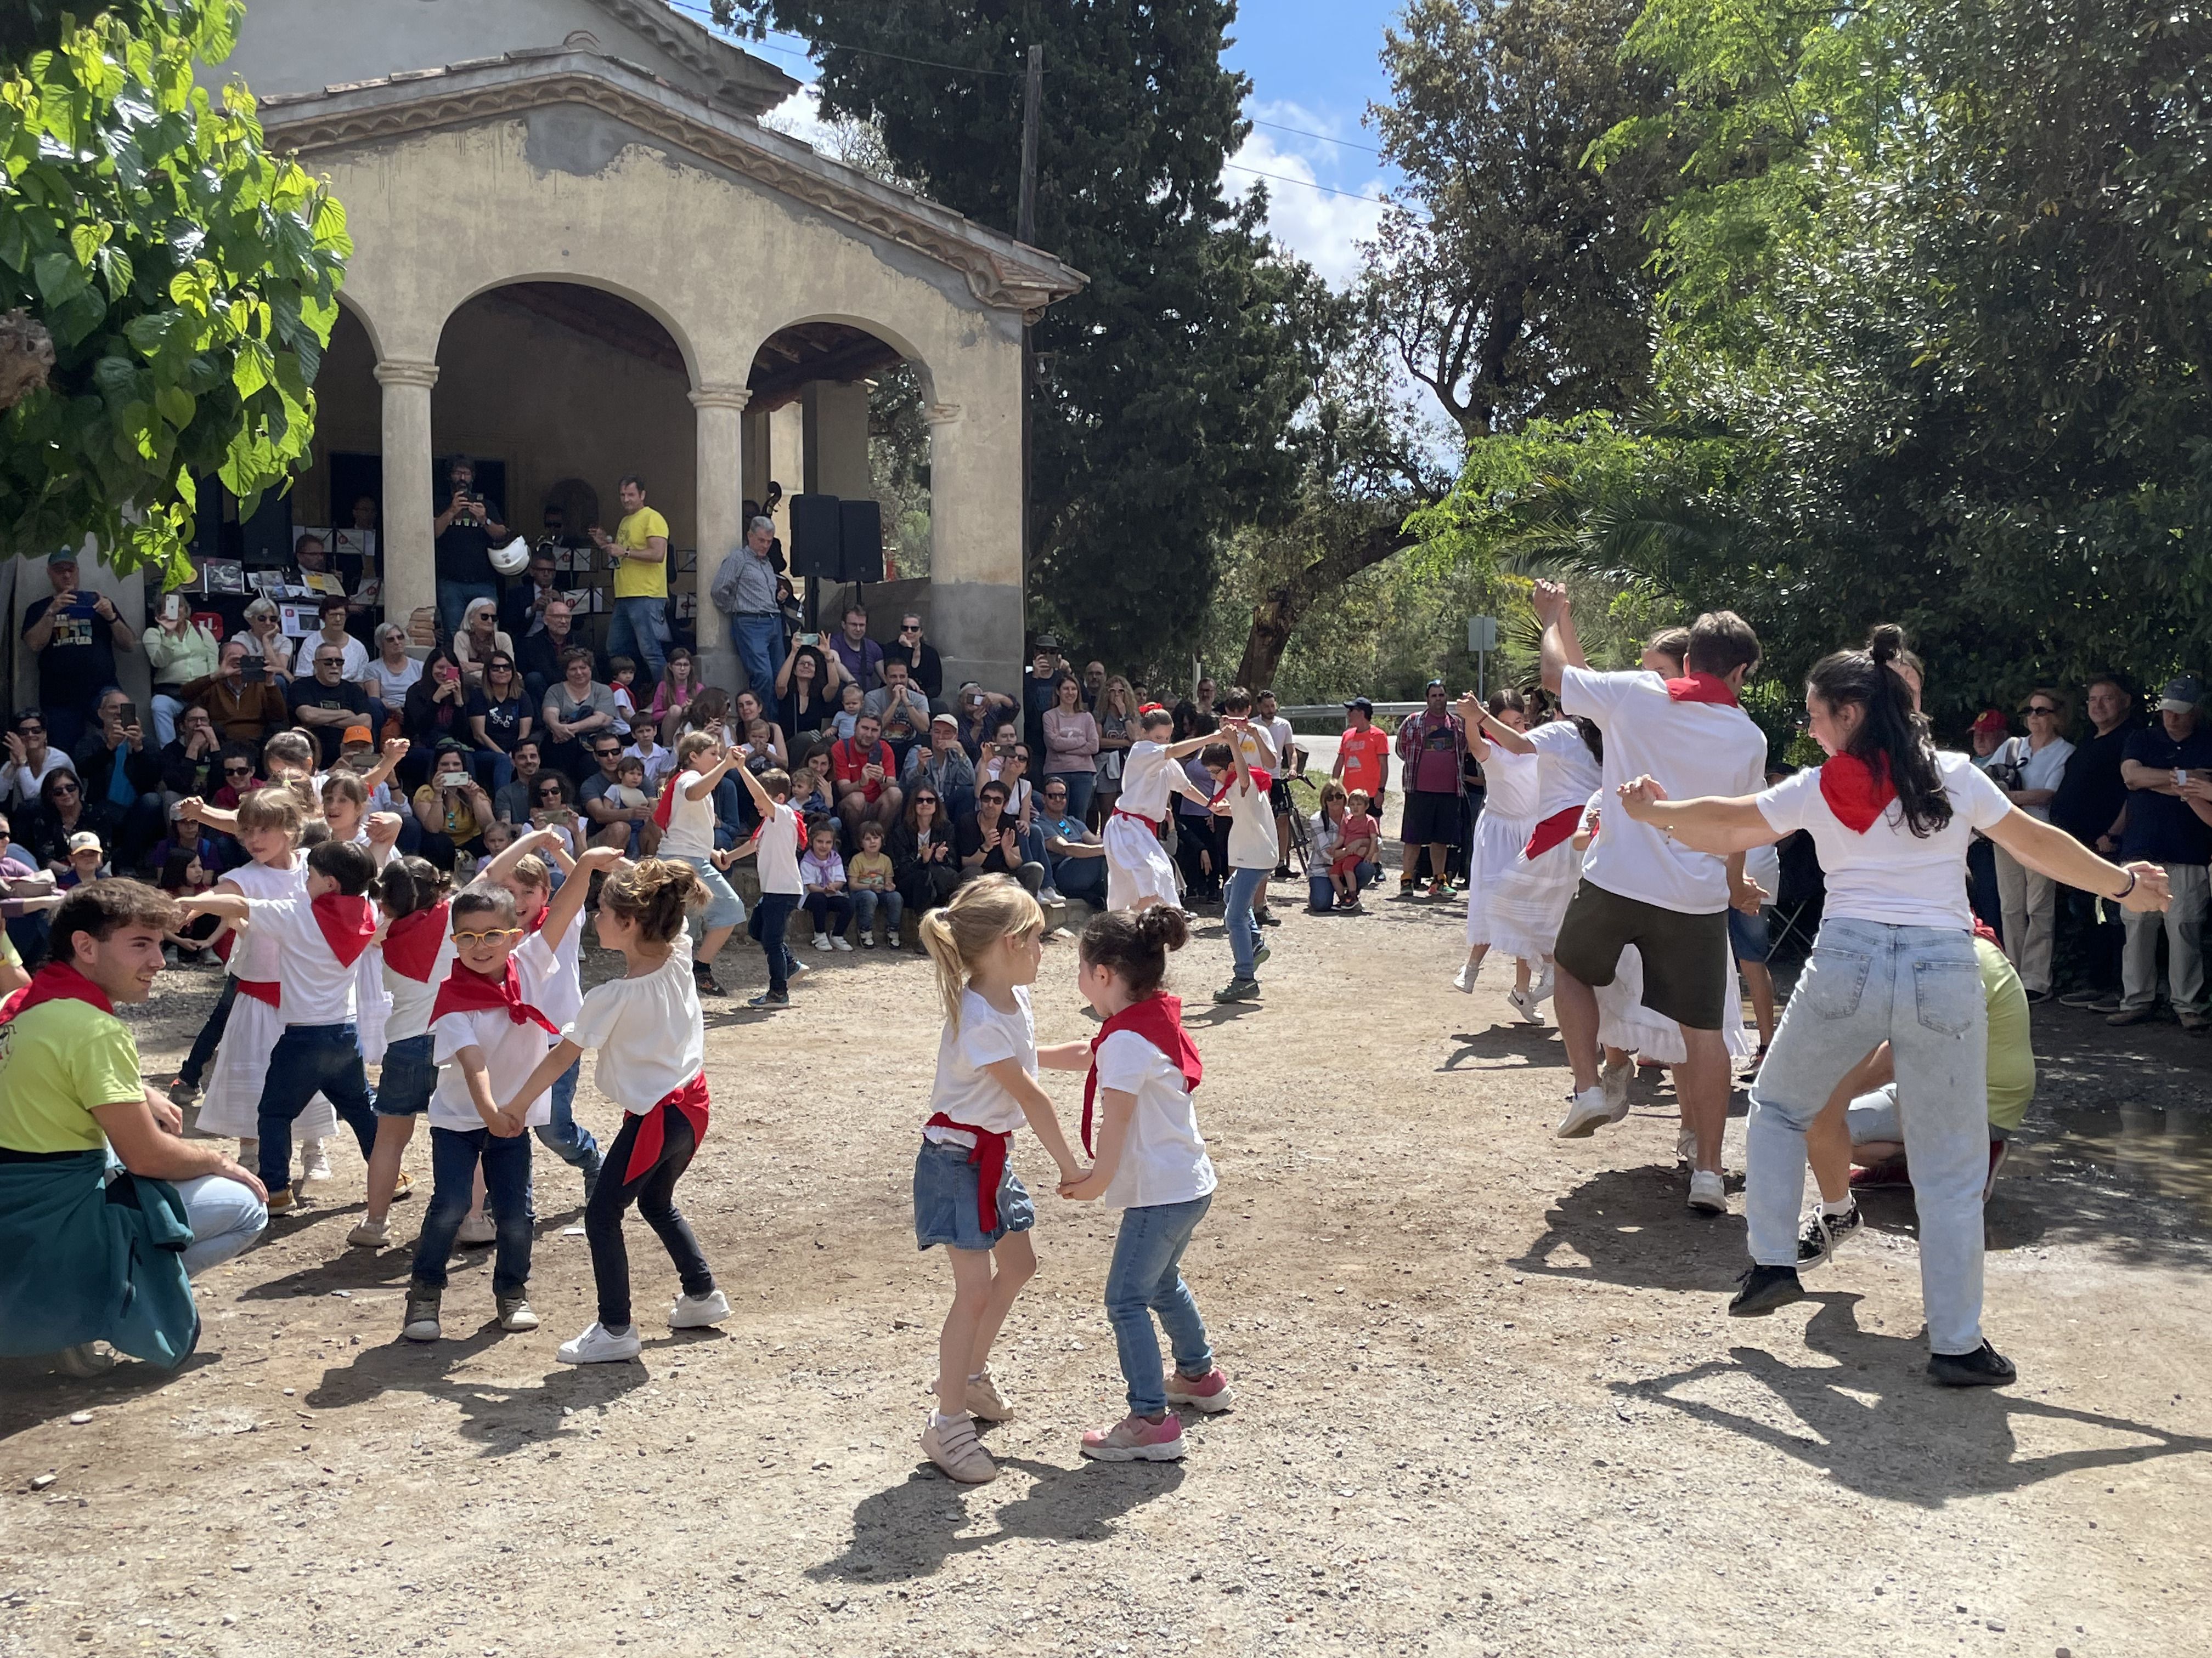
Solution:
[(964, 1488), (936, 1468), (918, 1468), (898, 1486), (863, 1497), (852, 1512), (852, 1543), (834, 1561), (807, 1567), (816, 1583), (907, 1583), (925, 1578), (953, 1554), (980, 1554), (1015, 1539), (1099, 1543), (1115, 1521), (1183, 1483), (1179, 1461), (1086, 1461), (1055, 1468), (1029, 1457), (1000, 1457), (1035, 1479), (1026, 1497), (991, 1510), (995, 1532), (960, 1536), (978, 1514), (960, 1501)]

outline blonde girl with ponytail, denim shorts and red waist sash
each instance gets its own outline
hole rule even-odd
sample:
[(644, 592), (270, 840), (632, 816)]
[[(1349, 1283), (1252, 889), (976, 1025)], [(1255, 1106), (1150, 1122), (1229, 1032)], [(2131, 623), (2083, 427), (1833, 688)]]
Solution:
[(922, 1450), (953, 1479), (982, 1486), (998, 1479), (998, 1463), (975, 1439), (971, 1417), (1013, 1415), (991, 1379), (991, 1344), (1037, 1271), (1029, 1247), (1035, 1214), (1006, 1154), (1026, 1119), (1060, 1178), (1082, 1178), (1035, 1072), (1040, 1063), (1082, 1070), (1088, 1050), (1068, 1041), (1037, 1052), (1029, 986), (1044, 955), (1044, 911), (1022, 882), (984, 875), (962, 886), (951, 904), (922, 917), (922, 948), (938, 966), (945, 1035), (914, 1158), (914, 1240), (922, 1249), (945, 1245), (953, 1265), (953, 1304), (938, 1335), (938, 1404)]

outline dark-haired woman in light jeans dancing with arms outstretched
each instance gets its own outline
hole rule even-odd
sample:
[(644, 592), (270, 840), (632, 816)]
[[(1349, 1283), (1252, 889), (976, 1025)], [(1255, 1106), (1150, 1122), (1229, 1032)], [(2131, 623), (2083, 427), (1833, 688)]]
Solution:
[(1836, 1081), (1887, 1041), (1920, 1211), (1929, 1375), (1947, 1386), (2002, 1386), (2015, 1379), (2013, 1364), (1982, 1337), (1986, 1010), (1966, 844), (1980, 829), (2028, 869), (2132, 911), (2166, 909), (2166, 871), (2108, 864), (2013, 807), (1964, 754), (1938, 754), (1907, 661), (1905, 634), (1882, 626), (1865, 650), (1814, 665), (1805, 712), (1829, 756), (1823, 765), (1734, 800), (1668, 800), (1637, 778), (1621, 787), (1621, 807), (1710, 853), (1805, 829), (1827, 875), (1820, 935), (1752, 1083), (1743, 1194), (1752, 1269), (1728, 1311), (1772, 1313), (1803, 1298), (1805, 1130)]

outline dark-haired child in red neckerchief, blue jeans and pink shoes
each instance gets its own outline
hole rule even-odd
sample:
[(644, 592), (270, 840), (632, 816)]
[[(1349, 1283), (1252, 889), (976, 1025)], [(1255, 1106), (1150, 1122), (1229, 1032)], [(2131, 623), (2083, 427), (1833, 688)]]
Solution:
[[(1108, 911), (1091, 917), (1077, 946), (1075, 984), (1106, 1021), (1091, 1039), (1086, 1152), (1093, 1105), (1102, 1125), (1097, 1161), (1079, 1180), (1062, 1180), (1060, 1196), (1121, 1209), (1106, 1318), (1128, 1382), (1128, 1417), (1084, 1435), (1082, 1452), (1099, 1461), (1175, 1461), (1183, 1455), (1183, 1424), (1168, 1406), (1212, 1413), (1232, 1404), (1181, 1271), (1190, 1234), (1214, 1200), (1214, 1165), (1190, 1108), (1206, 1072), (1183, 1032), (1183, 1004), (1159, 988), (1168, 951), (1188, 937), (1172, 909)], [(1161, 1375), (1152, 1313), (1175, 1349), (1172, 1377)]]

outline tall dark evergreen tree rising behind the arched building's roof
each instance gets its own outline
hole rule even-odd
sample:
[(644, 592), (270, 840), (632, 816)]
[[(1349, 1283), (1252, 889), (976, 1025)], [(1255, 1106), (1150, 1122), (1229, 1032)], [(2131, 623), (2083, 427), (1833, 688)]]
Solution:
[[(1042, 248), (1091, 281), (1035, 325), (1031, 608), (1084, 650), (1190, 643), (1237, 524), (1294, 506), (1294, 413), (1321, 283), (1232, 201), (1228, 0), (717, 0), (818, 42), (823, 113), (874, 124), (900, 177), (1013, 230), (1022, 66), (1044, 46)], [(841, 44), (830, 44), (841, 42)]]

